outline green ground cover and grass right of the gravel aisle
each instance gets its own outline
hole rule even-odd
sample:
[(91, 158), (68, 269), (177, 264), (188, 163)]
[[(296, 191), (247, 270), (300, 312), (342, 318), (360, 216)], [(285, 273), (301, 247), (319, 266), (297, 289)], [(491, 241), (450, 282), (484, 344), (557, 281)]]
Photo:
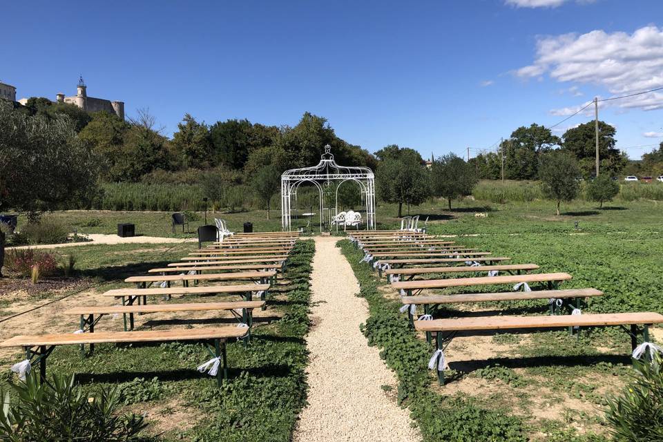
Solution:
[[(411, 213), (423, 213), (423, 218), (430, 215), (430, 233), (458, 236), (453, 239), (460, 244), (510, 256), (515, 263), (534, 262), (541, 272), (573, 275), (562, 288), (595, 287), (605, 292), (583, 311), (663, 313), (659, 276), (662, 207), (656, 202), (612, 205), (613, 209), (598, 210), (592, 203), (573, 202), (559, 217), (550, 203), (539, 201), (465, 201), (455, 211), (422, 204)], [(487, 213), (487, 218), (475, 217), (479, 212)], [(382, 220), (386, 227), (396, 227), (398, 222), (396, 218)], [(342, 247), (361, 281), (361, 296), (371, 307), (364, 332), (398, 374), (399, 398), (410, 407), (425, 441), (609, 439), (604, 422), (606, 397), (619, 392), (633, 372), (626, 334), (614, 328), (584, 332), (579, 339), (566, 332), (542, 332), (527, 338), (497, 334), (489, 343), (506, 345), (506, 351), (485, 360), (454, 364), (450, 359), (450, 384), (439, 388), (427, 370), (432, 345), (417, 338), (405, 316), (398, 314), (400, 302), (385, 297), (390, 289), (384, 278), (376, 280), (369, 266), (358, 264), (363, 253), (349, 242)], [(511, 289), (471, 287), (441, 293)], [(468, 309), (477, 308), (492, 314), (546, 314), (547, 305), (545, 301), (458, 305), (435, 315), (463, 316)], [(469, 350), (455, 341), (454, 345), (459, 354)], [(479, 382), (481, 388), (467, 389), (472, 382)], [(546, 416), (541, 412), (546, 408), (556, 412)]]

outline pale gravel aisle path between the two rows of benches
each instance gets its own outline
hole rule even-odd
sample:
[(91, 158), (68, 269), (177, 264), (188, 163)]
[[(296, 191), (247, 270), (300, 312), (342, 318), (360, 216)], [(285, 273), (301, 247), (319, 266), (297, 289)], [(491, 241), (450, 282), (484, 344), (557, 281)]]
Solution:
[(381, 389), (395, 387), (396, 378), (359, 331), (367, 305), (355, 296), (358, 281), (336, 241), (316, 238), (311, 273), (314, 327), (307, 336), (311, 389), (294, 441), (419, 441), (409, 412)]

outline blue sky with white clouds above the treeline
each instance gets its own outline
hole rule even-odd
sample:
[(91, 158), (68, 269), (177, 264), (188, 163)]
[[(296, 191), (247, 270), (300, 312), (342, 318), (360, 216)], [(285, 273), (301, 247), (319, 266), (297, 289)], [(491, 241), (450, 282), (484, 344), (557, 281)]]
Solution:
[[(73, 95), (82, 74), (88, 95), (124, 101), (127, 115), (150, 108), (169, 134), (184, 113), (294, 125), (310, 111), (369, 151), (474, 156), (595, 95), (663, 86), (655, 0), (32, 1), (3, 12), (0, 79), (18, 97)], [(663, 140), (662, 108), (653, 93), (602, 104), (600, 117), (639, 158)]]

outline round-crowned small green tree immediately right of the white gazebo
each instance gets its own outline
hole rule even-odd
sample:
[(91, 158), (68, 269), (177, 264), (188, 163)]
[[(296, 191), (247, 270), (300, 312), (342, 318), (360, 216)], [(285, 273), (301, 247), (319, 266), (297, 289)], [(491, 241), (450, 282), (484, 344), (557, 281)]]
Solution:
[(403, 204), (421, 204), (430, 196), (430, 174), (412, 157), (390, 158), (378, 165), (376, 186), (383, 201), (398, 203), (398, 218), (401, 218)]

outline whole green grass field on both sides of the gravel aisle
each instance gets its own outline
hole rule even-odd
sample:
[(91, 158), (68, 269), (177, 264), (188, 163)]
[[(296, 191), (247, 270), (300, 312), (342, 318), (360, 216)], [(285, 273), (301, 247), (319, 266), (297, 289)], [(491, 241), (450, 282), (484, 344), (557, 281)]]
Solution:
[[(420, 214), (422, 222), (429, 217), (430, 233), (456, 236), (460, 244), (510, 256), (515, 263), (534, 262), (542, 272), (572, 274), (573, 280), (562, 288), (595, 287), (605, 292), (583, 311), (663, 313), (663, 206), (659, 202), (614, 202), (599, 210), (595, 204), (579, 201), (563, 204), (558, 217), (550, 202), (494, 204), (468, 199), (454, 203), (452, 211), (445, 210), (445, 202), (436, 202), (412, 207), (410, 213)], [(479, 218), (475, 213), (487, 216)], [(118, 222), (135, 222), (137, 233), (146, 236), (194, 236), (173, 235), (170, 213), (64, 211), (54, 215), (78, 233), (115, 233)], [(256, 231), (280, 229), (277, 211), (272, 213), (276, 219), (269, 221), (265, 211), (217, 215), (235, 230), (245, 221), (253, 222)], [(378, 206), (378, 227), (399, 225), (394, 215), (396, 206)], [(213, 214), (208, 217), (212, 220)], [(202, 219), (192, 222), (191, 231), (200, 224)], [(91, 300), (99, 291), (124, 285), (126, 276), (172, 262), (193, 247), (191, 243), (84, 245), (59, 249), (59, 253), (75, 254), (77, 277), (89, 286), (83, 292), (89, 297), (82, 300)], [(410, 407), (425, 441), (609, 439), (603, 420), (605, 398), (619, 392), (632, 373), (626, 334), (607, 329), (583, 334), (579, 340), (566, 332), (457, 338), (447, 352), (450, 383), (441, 388), (426, 368), (432, 347), (398, 314), (394, 294), (384, 280), (377, 281), (368, 266), (358, 265), (360, 255), (349, 243), (343, 248), (362, 282), (361, 295), (371, 305), (365, 334), (383, 349), (386, 363), (398, 374), (398, 398)], [(287, 441), (305, 401), (307, 356), (302, 337), (308, 326), (311, 249), (311, 245), (303, 247), (289, 285), (273, 294), (276, 307), (257, 327), (256, 342), (249, 347), (230, 346), (230, 365), (238, 376), (222, 394), (215, 393), (210, 378), (191, 374), (192, 367), (206, 360), (202, 347), (196, 345), (102, 345), (85, 360), (79, 358), (77, 348), (62, 347), (53, 354), (50, 368), (61, 374), (79, 373), (86, 388), (113, 383), (126, 389), (126, 408), (147, 413), (152, 423), (148, 436), (154, 440)], [(3, 284), (11, 279), (0, 282), (0, 321), (81, 290), (8, 293)], [(38, 310), (37, 318), (30, 316), (33, 324), (21, 317), (0, 322), (0, 332), (10, 336), (27, 327), (75, 329), (76, 320), (62, 316), (61, 307), (55, 305)], [(546, 302), (494, 303), (463, 305), (436, 314), (461, 316), (474, 309), (545, 314), (546, 307)], [(657, 330), (653, 336), (663, 340)], [(16, 351), (0, 352), (3, 367), (20, 358)], [(3, 372), (1, 383), (10, 378)]]

